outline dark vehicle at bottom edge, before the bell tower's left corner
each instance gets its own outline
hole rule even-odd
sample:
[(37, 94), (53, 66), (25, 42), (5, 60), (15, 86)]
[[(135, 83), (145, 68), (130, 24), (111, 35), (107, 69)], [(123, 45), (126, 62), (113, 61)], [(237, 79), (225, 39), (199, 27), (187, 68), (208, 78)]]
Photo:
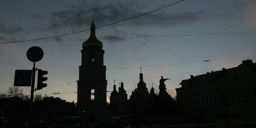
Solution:
[(65, 117), (60, 119), (51, 128), (85, 128), (85, 121), (83, 117)]

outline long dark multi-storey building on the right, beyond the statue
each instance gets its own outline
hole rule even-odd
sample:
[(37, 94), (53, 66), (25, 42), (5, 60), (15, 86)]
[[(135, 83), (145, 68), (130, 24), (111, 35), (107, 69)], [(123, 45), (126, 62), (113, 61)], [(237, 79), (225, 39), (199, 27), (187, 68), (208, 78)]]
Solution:
[(256, 63), (252, 60), (230, 69), (191, 75), (180, 85), (177, 100), (185, 112), (202, 118), (256, 114)]

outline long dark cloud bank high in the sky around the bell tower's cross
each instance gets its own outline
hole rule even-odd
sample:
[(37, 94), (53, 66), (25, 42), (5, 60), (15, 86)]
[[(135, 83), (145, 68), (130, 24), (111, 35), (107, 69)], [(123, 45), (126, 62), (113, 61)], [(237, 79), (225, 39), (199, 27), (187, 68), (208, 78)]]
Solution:
[[(135, 7), (133, 7), (135, 8)], [(130, 5), (127, 4), (106, 4), (102, 6), (91, 7), (90, 9), (70, 9), (61, 12), (54, 12), (50, 14), (50, 25), (49, 29), (56, 29), (62, 27), (72, 27), (80, 28), (84, 25), (88, 26), (92, 22), (92, 14), (94, 14), (95, 20), (97, 21), (97, 26), (110, 24), (140, 14), (145, 13), (145, 11), (132, 9)], [(172, 25), (172, 24), (182, 24), (186, 22), (195, 22), (204, 17), (204, 11), (197, 12), (183, 12), (180, 14), (173, 14), (171, 12), (154, 12), (146, 14), (144, 16), (128, 20), (128, 22), (118, 23), (117, 25)], [(97, 27), (96, 26), (96, 27)]]

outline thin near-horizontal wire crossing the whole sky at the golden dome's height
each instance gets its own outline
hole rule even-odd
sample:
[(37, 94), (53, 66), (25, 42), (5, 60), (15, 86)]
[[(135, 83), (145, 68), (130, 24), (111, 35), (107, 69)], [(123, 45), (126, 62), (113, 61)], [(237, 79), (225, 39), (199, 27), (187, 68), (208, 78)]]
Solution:
[[(186, 34), (186, 35), (169, 35), (169, 36), (139, 36), (139, 37), (118, 37), (118, 38), (99, 38), (99, 40), (111, 40), (111, 39), (131, 39), (131, 38), (154, 38), (154, 37), (173, 37), (173, 36), (203, 36), (203, 35), (221, 35), (221, 34), (246, 34), (256, 32), (226, 32), (226, 33), (213, 33), (213, 34)], [(79, 41), (86, 39), (77, 40), (47, 40), (47, 41), (26, 41), (26, 42), (59, 42), (59, 41)], [(16, 43), (16, 42), (2, 42), (0, 44)]]

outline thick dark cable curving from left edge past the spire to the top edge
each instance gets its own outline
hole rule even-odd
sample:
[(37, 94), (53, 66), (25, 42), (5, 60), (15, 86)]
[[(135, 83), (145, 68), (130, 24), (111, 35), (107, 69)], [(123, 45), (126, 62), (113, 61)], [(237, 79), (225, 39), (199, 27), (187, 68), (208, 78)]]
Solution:
[[(149, 14), (149, 13), (151, 13), (151, 12), (155, 12), (155, 11), (157, 11), (157, 10), (160, 10), (160, 9), (166, 8), (166, 7), (168, 7), (168, 6), (177, 4), (177, 3), (182, 2), (182, 1), (184, 1), (184, 0), (180, 0), (180, 1), (175, 2), (175, 3), (173, 3), (173, 4), (164, 6), (164, 7), (162, 7), (162, 8), (158, 8), (158, 9), (156, 9), (156, 10), (153, 10), (153, 11), (150, 11), (150, 12), (147, 12), (147, 13), (144, 13), (144, 14), (140, 14), (140, 15), (138, 15), (138, 16), (134, 16), (134, 17), (131, 17), (131, 18), (128, 18), (128, 19), (125, 19), (125, 20), (121, 20), (121, 21), (114, 22), (114, 23), (111, 23), (111, 24), (106, 24), (106, 25), (103, 25), (103, 26), (100, 26), (100, 27), (96, 27), (96, 28), (102, 28), (102, 27), (105, 27), (105, 26), (109, 26), (109, 25), (112, 25), (112, 24), (116, 24), (116, 23), (119, 23), (119, 22), (123, 22), (123, 21), (126, 21), (126, 20), (130, 20), (130, 19), (133, 19), (133, 18), (136, 18), (136, 17), (139, 17), (139, 16), (143, 16), (143, 15)], [(90, 29), (88, 29), (88, 30), (90, 30)], [(48, 38), (54, 38), (54, 37), (59, 37), (59, 36), (66, 36), (66, 35), (76, 34), (76, 33), (85, 32), (85, 31), (88, 31), (88, 30), (82, 30), (82, 31), (79, 31), (79, 32), (72, 32), (72, 33), (69, 33), (69, 34), (63, 34), (63, 35), (58, 35), (58, 36), (51, 36), (51, 37), (46, 37), (46, 38), (39, 38), (39, 39), (33, 39), (33, 40), (22, 40), (22, 41), (14, 41), (14, 42), (4, 42), (4, 43), (16, 43), (16, 42), (27, 42), (27, 41), (34, 41), (34, 40), (43, 40), (43, 39), (48, 39)]]

